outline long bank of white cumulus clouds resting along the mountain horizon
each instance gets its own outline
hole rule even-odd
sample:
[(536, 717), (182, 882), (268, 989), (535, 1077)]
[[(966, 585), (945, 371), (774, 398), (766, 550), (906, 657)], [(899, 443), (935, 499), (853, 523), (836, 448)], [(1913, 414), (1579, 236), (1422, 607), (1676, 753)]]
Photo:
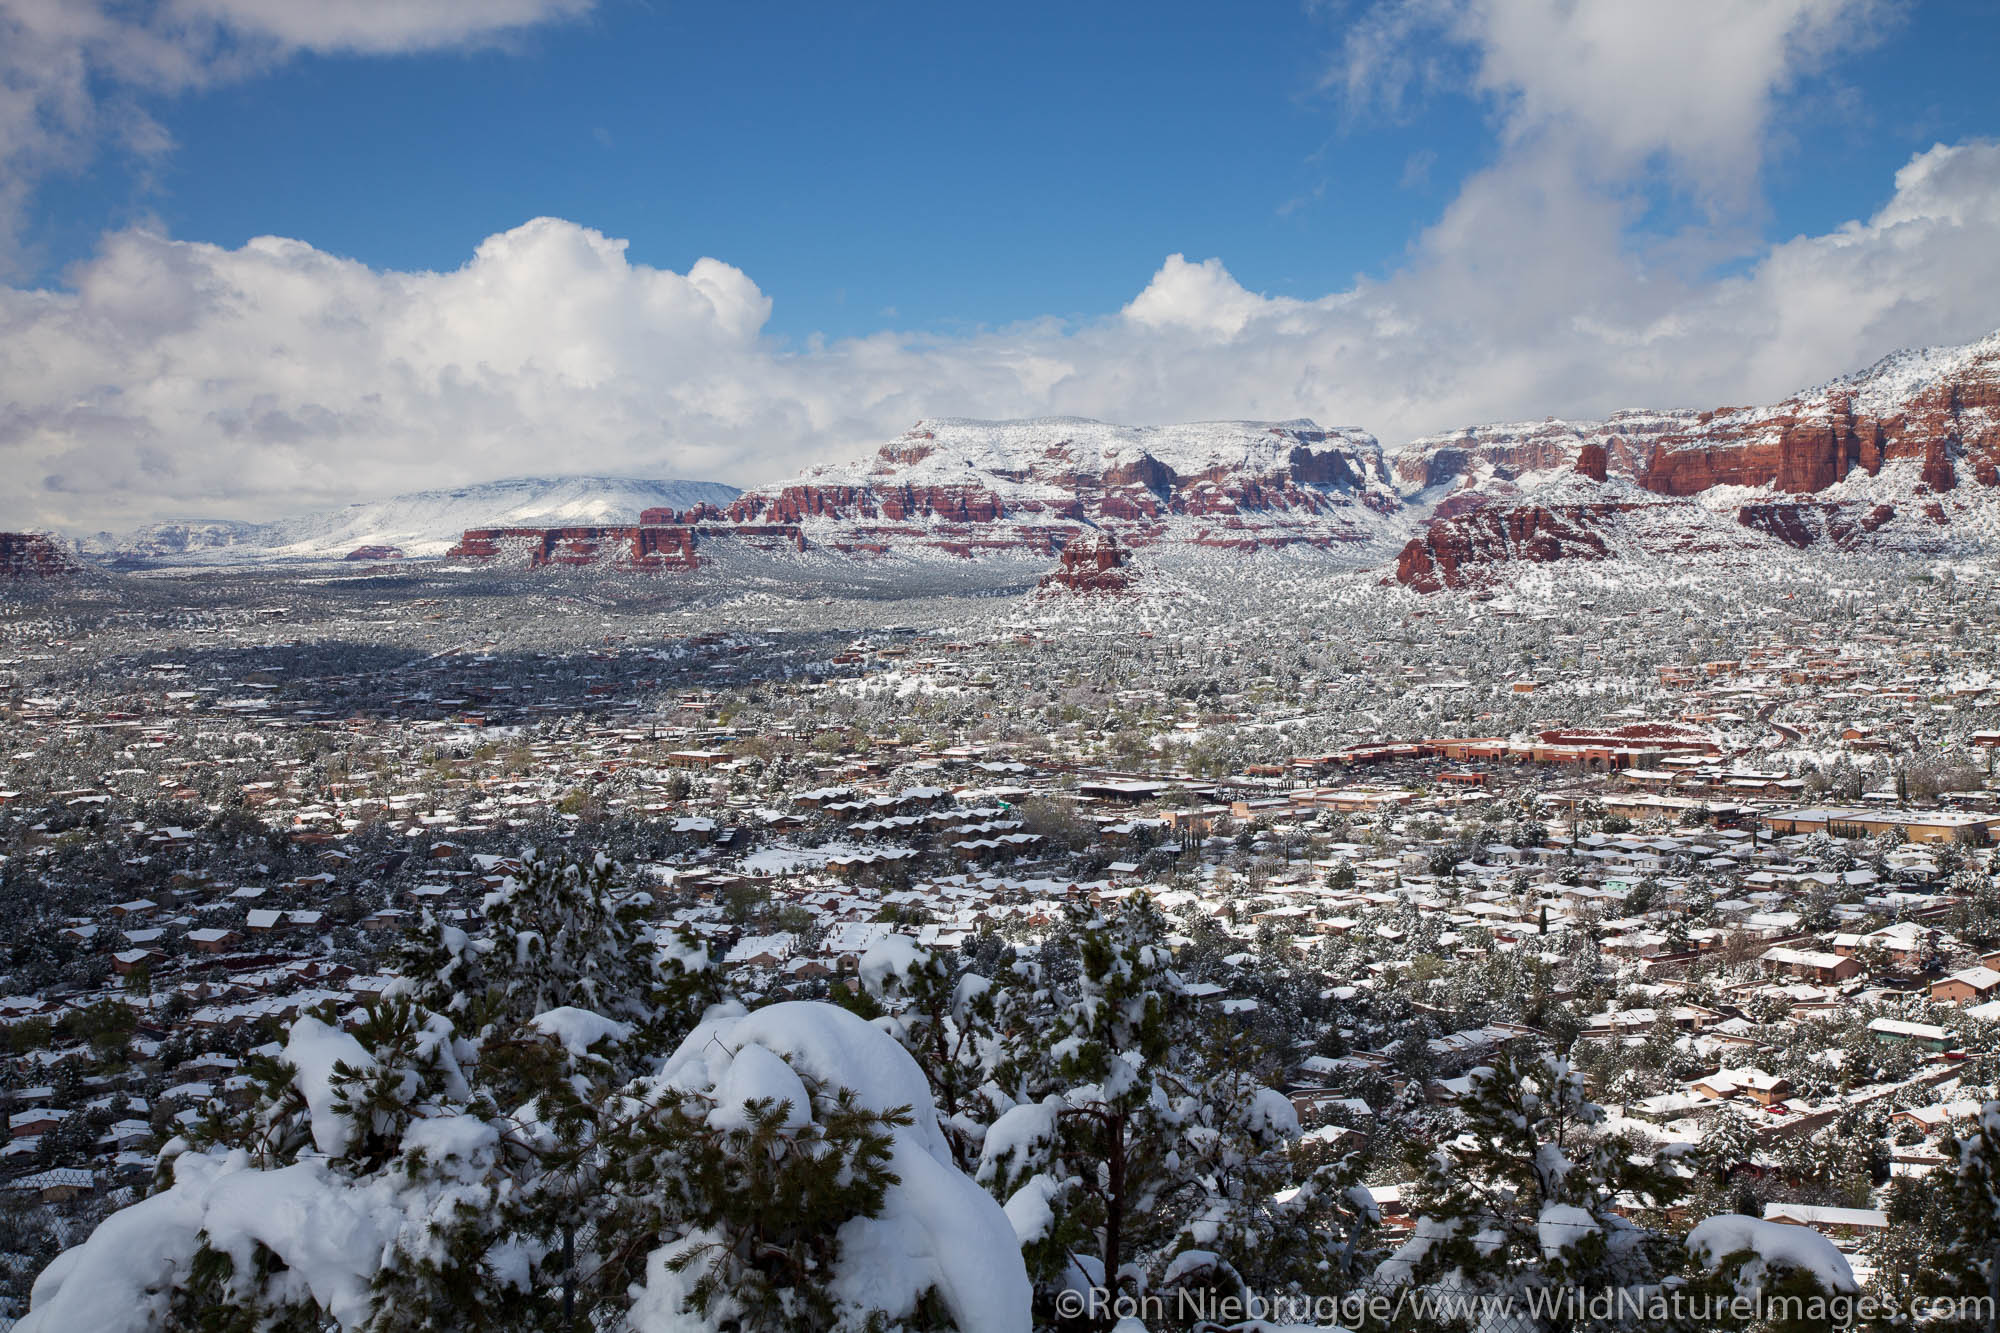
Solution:
[(740, 484), (918, 416), (1316, 416), (1396, 442), (1478, 420), (1768, 400), (2000, 324), (2000, 146), (1914, 156), (1868, 218), (1728, 278), (1654, 272), (1614, 202), (1472, 178), (1410, 262), (1320, 300), (1168, 258), (1116, 314), (790, 348), (750, 274), (634, 262), (556, 218), (452, 272), (298, 240), (110, 236), (0, 290), (0, 526), (272, 516), (524, 472)]

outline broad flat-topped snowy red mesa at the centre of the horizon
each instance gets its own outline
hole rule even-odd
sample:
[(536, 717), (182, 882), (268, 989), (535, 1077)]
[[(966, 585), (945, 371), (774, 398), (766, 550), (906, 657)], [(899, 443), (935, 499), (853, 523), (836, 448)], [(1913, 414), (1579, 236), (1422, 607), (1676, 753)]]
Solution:
[(1056, 554), (1094, 526), (1128, 544), (1258, 550), (1380, 540), (1402, 496), (1382, 446), (1310, 420), (1110, 426), (922, 420), (874, 456), (746, 490), (678, 522), (796, 524), (846, 552)]

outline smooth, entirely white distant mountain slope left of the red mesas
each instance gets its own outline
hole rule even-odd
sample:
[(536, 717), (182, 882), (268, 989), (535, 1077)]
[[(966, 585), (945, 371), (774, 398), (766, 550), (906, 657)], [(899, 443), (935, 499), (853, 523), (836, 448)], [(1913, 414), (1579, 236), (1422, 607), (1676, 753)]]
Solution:
[(340, 560), (366, 548), (412, 558), (440, 556), (464, 528), (638, 522), (646, 508), (728, 504), (738, 494), (736, 486), (720, 482), (514, 476), (450, 490), (412, 490), (274, 522), (150, 522), (120, 536), (100, 532), (80, 546), (86, 554), (136, 564)]

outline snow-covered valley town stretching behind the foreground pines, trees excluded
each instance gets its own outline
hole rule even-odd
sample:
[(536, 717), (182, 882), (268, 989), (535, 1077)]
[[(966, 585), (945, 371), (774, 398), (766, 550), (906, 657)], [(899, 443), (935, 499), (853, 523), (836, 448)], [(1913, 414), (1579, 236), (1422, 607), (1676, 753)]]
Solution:
[[(1330, 1293), (1416, 1265), (1436, 1153), (1470, 1151), (1496, 1067), (1554, 1061), (1572, 1115), (1672, 1185), (1564, 1205), (1594, 1229), (1750, 1217), (1822, 1237), (1834, 1287), (1920, 1289), (1938, 1173), (2000, 1077), (1988, 578), (1426, 598), (1260, 556), (1156, 558), (1138, 594), (940, 596), (910, 570), (888, 598), (832, 568), (784, 600), (408, 568), (10, 604), (14, 1313), (162, 1161), (230, 1125), (274, 1143), (272, 1061), (324, 1081), (302, 1029), (420, 993), (412, 939), (492, 937), (524, 877), (598, 859), (630, 947), (698, 953), (752, 1017), (838, 1001), (918, 1053), (942, 1029), (980, 1051), (926, 1071), (938, 1133), (1044, 1301), (1092, 1247), (1064, 1237), (1056, 1269), (1036, 1247), (1094, 1213), (1024, 1201), (1062, 1173), (1002, 1149), (1062, 1137), (1024, 1129), (1044, 1103), (994, 1061), (1056, 1041), (1060, 987), (926, 1013), (908, 973), (1074, 977), (1076, 941), (1132, 921), (1182, 1039), (1260, 1089), (1264, 1139), (1230, 1121), (1244, 1179), (1366, 1191), (1294, 1217), (1230, 1203), (1210, 1163), (1206, 1203), (1128, 1223), (1154, 1283)], [(1260, 1227), (1330, 1225), (1344, 1273), (1252, 1273)]]

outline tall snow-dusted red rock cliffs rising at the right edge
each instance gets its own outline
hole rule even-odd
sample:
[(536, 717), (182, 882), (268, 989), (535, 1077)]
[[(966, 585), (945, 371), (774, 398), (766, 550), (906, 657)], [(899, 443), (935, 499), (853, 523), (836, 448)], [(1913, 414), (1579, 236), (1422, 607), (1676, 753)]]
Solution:
[(1396, 476), (1430, 504), (1396, 564), (1426, 592), (1508, 562), (1642, 550), (1980, 544), (2000, 516), (2000, 334), (1898, 352), (1764, 408), (1430, 436)]

